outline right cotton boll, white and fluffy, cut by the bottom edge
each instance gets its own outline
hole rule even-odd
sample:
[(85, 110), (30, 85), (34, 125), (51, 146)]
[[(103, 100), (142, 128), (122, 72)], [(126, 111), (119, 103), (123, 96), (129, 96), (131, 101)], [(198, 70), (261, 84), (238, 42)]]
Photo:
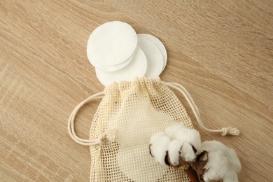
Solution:
[[(237, 174), (241, 170), (241, 163), (234, 149), (228, 148), (219, 141), (204, 141), (202, 150), (207, 151), (207, 164), (204, 165), (204, 181), (223, 182), (238, 181)], [(198, 168), (198, 167), (197, 167)]]

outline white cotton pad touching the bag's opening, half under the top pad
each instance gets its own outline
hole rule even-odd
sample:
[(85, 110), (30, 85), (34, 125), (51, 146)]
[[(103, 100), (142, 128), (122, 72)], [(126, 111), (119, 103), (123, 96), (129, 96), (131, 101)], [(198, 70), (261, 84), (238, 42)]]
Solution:
[(147, 59), (141, 48), (137, 48), (134, 58), (123, 69), (113, 72), (106, 72), (96, 68), (96, 74), (102, 85), (106, 86), (114, 81), (133, 80), (135, 77), (142, 77), (145, 75), (147, 69)]

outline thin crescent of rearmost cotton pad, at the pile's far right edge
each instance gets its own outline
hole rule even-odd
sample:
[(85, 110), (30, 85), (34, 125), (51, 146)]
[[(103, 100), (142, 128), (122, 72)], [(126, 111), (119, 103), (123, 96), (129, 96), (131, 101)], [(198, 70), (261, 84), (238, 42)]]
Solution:
[(167, 50), (166, 50), (165, 46), (163, 45), (163, 43), (158, 38), (156, 38), (155, 36), (152, 36), (150, 34), (137, 34), (137, 37), (149, 40), (158, 46), (158, 48), (160, 49), (162, 56), (163, 56), (163, 61), (164, 61), (164, 66), (162, 69), (162, 71), (163, 71), (165, 69), (166, 64), (167, 64)]

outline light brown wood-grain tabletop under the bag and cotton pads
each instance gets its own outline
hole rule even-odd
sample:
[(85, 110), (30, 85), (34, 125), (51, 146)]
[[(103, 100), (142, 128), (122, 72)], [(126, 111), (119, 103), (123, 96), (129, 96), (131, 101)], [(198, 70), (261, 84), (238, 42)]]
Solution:
[[(239, 137), (202, 132), (237, 150), (240, 181), (273, 181), (272, 13), (269, 0), (1, 0), (0, 181), (89, 180), (89, 148), (69, 137), (67, 120), (104, 89), (86, 43), (112, 20), (160, 38), (169, 56), (162, 80), (188, 89), (207, 127), (241, 130)], [(80, 110), (80, 137), (88, 137), (98, 104)]]

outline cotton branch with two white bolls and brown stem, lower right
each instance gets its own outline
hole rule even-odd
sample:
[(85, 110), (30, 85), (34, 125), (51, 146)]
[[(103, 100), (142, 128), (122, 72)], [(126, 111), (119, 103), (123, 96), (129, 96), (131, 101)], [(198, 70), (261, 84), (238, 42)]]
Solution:
[(156, 162), (183, 169), (191, 182), (238, 181), (241, 163), (235, 150), (219, 141), (201, 144), (200, 133), (181, 123), (154, 134), (149, 147)]

